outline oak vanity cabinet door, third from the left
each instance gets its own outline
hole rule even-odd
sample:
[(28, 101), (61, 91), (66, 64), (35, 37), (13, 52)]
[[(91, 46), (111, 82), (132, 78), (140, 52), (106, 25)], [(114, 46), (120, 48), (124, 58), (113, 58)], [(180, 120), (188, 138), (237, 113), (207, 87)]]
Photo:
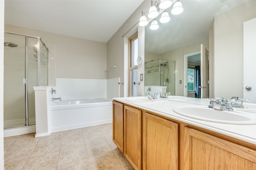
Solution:
[(143, 113), (143, 169), (178, 170), (178, 124)]

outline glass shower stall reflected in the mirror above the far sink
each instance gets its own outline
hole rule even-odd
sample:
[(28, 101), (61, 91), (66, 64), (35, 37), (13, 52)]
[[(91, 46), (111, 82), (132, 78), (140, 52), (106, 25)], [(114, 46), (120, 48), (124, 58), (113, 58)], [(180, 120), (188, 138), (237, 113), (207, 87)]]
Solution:
[(154, 59), (145, 62), (145, 86), (166, 86), (166, 92), (175, 93), (175, 62)]

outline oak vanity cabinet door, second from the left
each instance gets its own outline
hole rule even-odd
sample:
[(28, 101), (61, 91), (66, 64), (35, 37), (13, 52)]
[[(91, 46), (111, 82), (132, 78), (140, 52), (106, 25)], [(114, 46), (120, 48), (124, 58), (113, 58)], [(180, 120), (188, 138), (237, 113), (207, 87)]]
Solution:
[(124, 156), (136, 170), (142, 169), (142, 111), (124, 106)]

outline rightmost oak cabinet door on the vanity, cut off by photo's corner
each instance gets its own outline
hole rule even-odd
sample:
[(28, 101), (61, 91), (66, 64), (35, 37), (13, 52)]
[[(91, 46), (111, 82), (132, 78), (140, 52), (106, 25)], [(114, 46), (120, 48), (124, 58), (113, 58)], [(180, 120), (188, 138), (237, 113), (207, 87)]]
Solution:
[(188, 127), (181, 140), (184, 170), (256, 170), (256, 150)]

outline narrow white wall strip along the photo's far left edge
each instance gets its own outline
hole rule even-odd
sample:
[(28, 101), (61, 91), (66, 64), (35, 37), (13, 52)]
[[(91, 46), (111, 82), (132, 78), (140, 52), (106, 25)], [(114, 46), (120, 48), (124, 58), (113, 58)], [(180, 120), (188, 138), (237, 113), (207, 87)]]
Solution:
[(4, 169), (4, 0), (0, 0), (0, 170)]

